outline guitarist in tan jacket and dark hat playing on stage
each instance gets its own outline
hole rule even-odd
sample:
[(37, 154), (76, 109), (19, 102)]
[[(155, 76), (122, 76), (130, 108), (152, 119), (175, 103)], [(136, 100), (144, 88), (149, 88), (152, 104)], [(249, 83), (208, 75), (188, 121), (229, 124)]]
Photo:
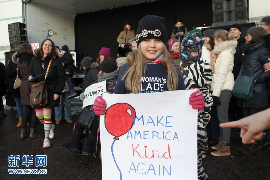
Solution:
[(120, 46), (127, 44), (132, 49), (131, 41), (135, 39), (135, 32), (131, 29), (131, 26), (132, 24), (129, 22), (125, 23), (124, 30), (118, 36), (117, 42)]

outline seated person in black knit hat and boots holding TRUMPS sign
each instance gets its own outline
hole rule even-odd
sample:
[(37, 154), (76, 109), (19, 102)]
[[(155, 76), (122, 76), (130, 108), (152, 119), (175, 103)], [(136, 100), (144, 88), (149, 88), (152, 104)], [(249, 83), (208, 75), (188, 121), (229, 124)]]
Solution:
[[(104, 60), (99, 66), (99, 69), (98, 80), (95, 83), (106, 80), (107, 93), (114, 93), (114, 87), (118, 76), (117, 65), (112, 61)], [(80, 99), (83, 101), (84, 97), (84, 95), (80, 96)], [(91, 134), (88, 135), (82, 154), (93, 154), (94, 147), (96, 145), (98, 127), (99, 118), (95, 118), (91, 126)], [(71, 142), (62, 144), (61, 147), (72, 151), (81, 151), (80, 141), (83, 137), (83, 130), (84, 128), (77, 123), (72, 134)]]

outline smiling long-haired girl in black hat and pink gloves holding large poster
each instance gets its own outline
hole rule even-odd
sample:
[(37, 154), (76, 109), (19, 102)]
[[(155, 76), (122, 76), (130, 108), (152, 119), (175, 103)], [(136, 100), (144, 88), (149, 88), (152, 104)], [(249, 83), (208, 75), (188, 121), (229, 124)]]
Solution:
[[(163, 17), (154, 15), (147, 15), (139, 21), (136, 35), (138, 50), (131, 52), (127, 57), (128, 63), (122, 66), (115, 94), (186, 89), (181, 69), (165, 47), (167, 33), (164, 22)], [(199, 111), (204, 109), (201, 91), (191, 94), (190, 105)], [(93, 107), (97, 115), (105, 114), (106, 103), (101, 96), (96, 98)]]

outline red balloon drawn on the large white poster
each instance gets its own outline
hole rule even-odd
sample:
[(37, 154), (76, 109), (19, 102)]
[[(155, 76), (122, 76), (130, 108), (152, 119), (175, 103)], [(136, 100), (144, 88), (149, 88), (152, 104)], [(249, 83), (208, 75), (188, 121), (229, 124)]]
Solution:
[(135, 109), (127, 103), (111, 105), (105, 113), (105, 127), (114, 139), (119, 140), (119, 136), (132, 128), (135, 115)]

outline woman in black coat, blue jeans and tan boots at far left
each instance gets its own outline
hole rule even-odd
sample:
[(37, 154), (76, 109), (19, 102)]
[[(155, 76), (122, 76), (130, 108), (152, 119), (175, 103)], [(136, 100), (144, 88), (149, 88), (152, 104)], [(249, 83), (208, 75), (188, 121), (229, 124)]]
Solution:
[(8, 62), (8, 67), (7, 67), (7, 90), (8, 90), (8, 96), (10, 98), (13, 98), (15, 103), (16, 103), (16, 107), (17, 107), (17, 112), (18, 112), (18, 116), (19, 116), (19, 121), (17, 124), (17, 127), (21, 127), (22, 126), (22, 118), (23, 118), (23, 106), (21, 105), (21, 97), (20, 97), (20, 88), (16, 88), (14, 89), (14, 81), (17, 77), (17, 75), (19, 75), (18, 71), (17, 71), (17, 64), (16, 64), (16, 54), (14, 53), (12, 55), (12, 59)]

